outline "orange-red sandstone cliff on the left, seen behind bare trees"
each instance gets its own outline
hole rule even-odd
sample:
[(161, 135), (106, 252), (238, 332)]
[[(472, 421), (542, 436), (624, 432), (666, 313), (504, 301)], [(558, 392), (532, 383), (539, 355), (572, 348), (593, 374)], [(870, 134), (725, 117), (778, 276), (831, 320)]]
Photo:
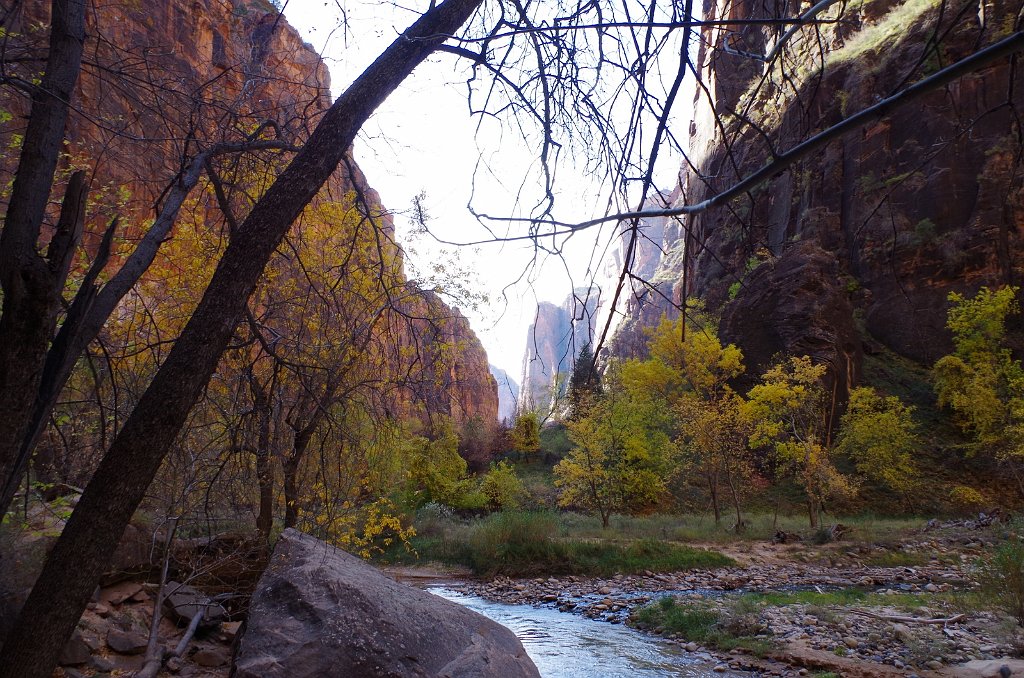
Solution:
[[(37, 58), (45, 54), (47, 32), (41, 27), (49, 23), (49, 6), (42, 1), (15, 6), (5, 25), (16, 37), (12, 50)], [(255, 137), (301, 144), (331, 103), (330, 76), (318, 54), (265, 1), (99, 0), (90, 7), (85, 63), (59, 170), (67, 178), (71, 169), (84, 167), (94, 177), (84, 238), (89, 252), (115, 215), (122, 223), (122, 254), (129, 251), (168, 186), (198, 153)], [(16, 146), (28, 113), (27, 97), (13, 91), (0, 94), (0, 110), (13, 114), (0, 125), (4, 147)], [(0, 162), (0, 180), (10, 179), (15, 160)], [(218, 157), (215, 165), (238, 214), (249, 202), (246, 190), (237, 188), (252, 186), (254, 177), (265, 176), (278, 162), (262, 152)], [(57, 197), (60, 190), (58, 185)], [(375, 219), (384, 256), (400, 257), (390, 216), (349, 157), (323, 195), (342, 199), (353, 193)], [(226, 238), (212, 192), (197, 188), (189, 198), (188, 218)], [(397, 308), (409, 322), (395, 327), (419, 351), (417, 362), (391, 366), (411, 384), (397, 400), (412, 405), (398, 414), (415, 407), (451, 416), (457, 424), (473, 416), (495, 421), (495, 381), (469, 323), (430, 293), (411, 296), (403, 295)]]

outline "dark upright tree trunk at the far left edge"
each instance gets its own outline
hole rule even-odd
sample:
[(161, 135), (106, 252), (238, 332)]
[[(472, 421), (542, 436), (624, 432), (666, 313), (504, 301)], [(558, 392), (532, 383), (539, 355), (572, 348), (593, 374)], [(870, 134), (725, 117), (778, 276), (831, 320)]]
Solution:
[(85, 0), (53, 0), (50, 11), (46, 72), (32, 95), (0, 235), (0, 515), (6, 512), (24, 471), (18, 450), (29, 427), (33, 394), (53, 338), (60, 293), (85, 210), (84, 175), (79, 175), (81, 195), (72, 195), (70, 183), (65, 196), (65, 208), (77, 210), (76, 218), (66, 223), (61, 210), (60, 224), (44, 258), (37, 250), (40, 227), (63, 141), (68, 102), (82, 63)]

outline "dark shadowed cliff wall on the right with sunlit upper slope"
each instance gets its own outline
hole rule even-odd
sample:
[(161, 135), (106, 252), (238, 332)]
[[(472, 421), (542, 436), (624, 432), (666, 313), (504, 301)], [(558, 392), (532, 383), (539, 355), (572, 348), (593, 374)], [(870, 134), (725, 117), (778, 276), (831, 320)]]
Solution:
[[(800, 33), (785, 51), (786, 78), (776, 66), (764, 82), (763, 63), (738, 52), (766, 53), (780, 29), (707, 29), (699, 65), (713, 99), (697, 105), (682, 200), (715, 195), (767, 163), (769, 144), (788, 150), (1005, 37), (1018, 8), (1006, 0), (961, 13), (931, 0), (836, 5), (828, 16), (845, 11), (843, 20)], [(709, 18), (801, 11), (795, 2), (705, 4)], [(724, 309), (722, 332), (753, 370), (777, 351), (808, 352), (829, 364), (842, 397), (857, 378), (862, 339), (930, 363), (951, 347), (950, 291), (1020, 280), (1024, 173), (1014, 112), (1022, 104), (1024, 74), (1010, 62), (969, 74), (686, 219), (692, 251), (667, 257), (655, 276), (672, 280), (678, 298), (688, 260), (686, 294)], [(681, 241), (667, 250), (679, 252)], [(668, 305), (635, 314), (660, 309)]]

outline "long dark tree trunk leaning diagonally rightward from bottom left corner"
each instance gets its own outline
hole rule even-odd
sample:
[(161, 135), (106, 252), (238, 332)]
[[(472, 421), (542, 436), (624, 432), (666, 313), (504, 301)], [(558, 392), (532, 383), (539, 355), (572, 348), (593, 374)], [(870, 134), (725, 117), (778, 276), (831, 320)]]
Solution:
[(0, 650), (0, 678), (50, 676), (128, 521), (216, 369), (270, 255), (338, 167), (367, 118), (480, 2), (445, 0), (428, 9), (338, 97), (253, 207), (50, 552)]

